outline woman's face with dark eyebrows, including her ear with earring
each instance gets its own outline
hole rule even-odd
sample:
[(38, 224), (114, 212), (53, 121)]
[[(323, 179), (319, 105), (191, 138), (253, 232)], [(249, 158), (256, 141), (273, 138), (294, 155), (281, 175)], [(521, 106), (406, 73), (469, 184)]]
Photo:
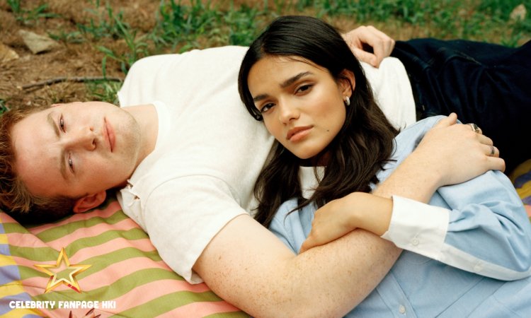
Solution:
[[(351, 74), (344, 71), (346, 76)], [(328, 70), (300, 57), (265, 57), (247, 82), (270, 134), (301, 159), (319, 154), (345, 122), (353, 76), (336, 81)]]

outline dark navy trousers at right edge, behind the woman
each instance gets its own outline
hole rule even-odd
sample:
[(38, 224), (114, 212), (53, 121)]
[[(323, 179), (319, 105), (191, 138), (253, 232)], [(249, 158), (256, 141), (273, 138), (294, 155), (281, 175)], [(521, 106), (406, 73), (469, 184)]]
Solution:
[(531, 159), (531, 41), (510, 48), (465, 40), (397, 41), (417, 119), (455, 112), (476, 123), (506, 160), (506, 172)]

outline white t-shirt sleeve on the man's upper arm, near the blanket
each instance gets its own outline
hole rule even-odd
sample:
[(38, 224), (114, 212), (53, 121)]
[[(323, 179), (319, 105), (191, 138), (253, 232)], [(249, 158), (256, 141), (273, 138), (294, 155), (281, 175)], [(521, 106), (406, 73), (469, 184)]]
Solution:
[(232, 189), (209, 176), (165, 182), (144, 204), (140, 218), (153, 245), (166, 264), (190, 283), (202, 282), (192, 267), (210, 240), (230, 220), (246, 213)]

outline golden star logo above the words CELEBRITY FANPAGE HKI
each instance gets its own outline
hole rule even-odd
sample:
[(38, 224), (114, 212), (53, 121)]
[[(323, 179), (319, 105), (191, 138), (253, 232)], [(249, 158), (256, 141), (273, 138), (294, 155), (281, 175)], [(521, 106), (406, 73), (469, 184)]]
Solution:
[(45, 293), (52, 291), (62, 283), (67, 285), (69, 288), (76, 290), (76, 292), (81, 293), (81, 288), (79, 288), (79, 284), (77, 283), (75, 276), (86, 271), (86, 269), (88, 269), (91, 265), (70, 264), (67, 253), (64, 252), (63, 247), (59, 253), (59, 257), (57, 257), (57, 262), (55, 265), (39, 264), (34, 266), (51, 276), (46, 286)]

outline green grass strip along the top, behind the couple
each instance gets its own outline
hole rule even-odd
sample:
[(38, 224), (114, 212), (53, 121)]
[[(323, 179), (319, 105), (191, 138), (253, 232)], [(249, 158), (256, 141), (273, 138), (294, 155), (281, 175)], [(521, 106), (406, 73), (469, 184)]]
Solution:
[[(7, 0), (20, 23), (61, 18), (50, 12), (46, 4), (25, 8), (23, 3)], [(519, 4), (531, 10), (531, 0), (258, 0), (253, 6), (235, 5), (229, 0), (216, 4), (163, 0), (153, 13), (155, 26), (148, 32), (132, 28), (120, 8), (111, 4), (112, 1), (89, 1), (88, 22), (77, 24), (76, 30), (70, 32), (50, 34), (65, 43), (90, 42), (103, 53), (103, 76), (110, 61), (120, 64), (126, 74), (137, 59), (152, 54), (249, 45), (273, 18), (293, 13), (318, 16), (349, 28), (372, 24), (388, 33), (396, 30), (391, 34), (394, 37), (464, 38), (512, 47), (531, 38), (530, 14), (523, 20), (510, 18)], [(111, 47), (109, 40), (120, 41), (122, 46)], [(101, 81), (91, 83), (87, 90), (90, 98), (113, 102), (118, 88), (115, 83)]]

